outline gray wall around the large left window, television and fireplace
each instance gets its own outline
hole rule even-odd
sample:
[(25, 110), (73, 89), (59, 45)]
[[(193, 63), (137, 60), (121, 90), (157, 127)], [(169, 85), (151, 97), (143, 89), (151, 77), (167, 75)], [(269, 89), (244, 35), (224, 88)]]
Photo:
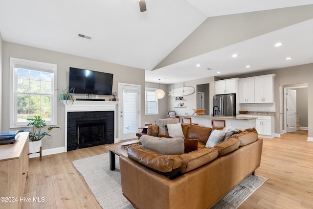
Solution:
[[(113, 73), (113, 92), (118, 92), (118, 83), (136, 84), (141, 86), (140, 112), (144, 113), (144, 89), (145, 89), (145, 71), (114, 63), (103, 62), (85, 57), (74, 56), (56, 51), (45, 50), (41, 48), (25, 46), (10, 42), (2, 42), (2, 130), (9, 130), (9, 84), (10, 84), (10, 57), (34, 60), (39, 62), (52, 63), (57, 65), (57, 89), (68, 87), (69, 67), (95, 70), (101, 72)], [(83, 95), (77, 96), (83, 98)], [(111, 96), (112, 97), (112, 96)], [(109, 100), (111, 97), (102, 97)], [(117, 95), (117, 98), (119, 95)], [(5, 99), (4, 99), (5, 98)], [(118, 116), (116, 109), (116, 117)], [(51, 132), (52, 138), (47, 137), (43, 140), (43, 149), (52, 149), (63, 147), (65, 138), (65, 107), (59, 101), (57, 102), (57, 126), (61, 129), (55, 129)], [(145, 115), (141, 114), (141, 125), (145, 122)], [(116, 119), (116, 138), (118, 138), (118, 118)]]

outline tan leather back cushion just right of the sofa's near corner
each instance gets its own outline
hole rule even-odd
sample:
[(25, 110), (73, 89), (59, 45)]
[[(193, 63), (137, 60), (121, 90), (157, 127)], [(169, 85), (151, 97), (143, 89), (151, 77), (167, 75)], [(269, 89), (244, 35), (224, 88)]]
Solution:
[(216, 159), (218, 155), (219, 152), (215, 147), (207, 147), (183, 154), (181, 155), (182, 163), (180, 167), (180, 173), (183, 174), (189, 172), (206, 163), (209, 163)]

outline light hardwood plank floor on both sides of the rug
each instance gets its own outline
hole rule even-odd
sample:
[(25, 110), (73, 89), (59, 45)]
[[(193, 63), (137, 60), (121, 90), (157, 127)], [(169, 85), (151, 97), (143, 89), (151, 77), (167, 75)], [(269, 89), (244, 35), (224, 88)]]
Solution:
[[(102, 145), (30, 159), (24, 196), (44, 197), (45, 202), (24, 202), (22, 209), (101, 209), (72, 161), (105, 152)], [(240, 209), (313, 208), (313, 142), (307, 136), (264, 139), (256, 175), (269, 180)]]

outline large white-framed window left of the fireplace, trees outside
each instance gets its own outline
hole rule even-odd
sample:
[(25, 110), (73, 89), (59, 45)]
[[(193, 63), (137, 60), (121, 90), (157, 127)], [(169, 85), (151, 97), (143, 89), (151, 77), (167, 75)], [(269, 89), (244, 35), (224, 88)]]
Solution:
[(56, 125), (57, 65), (10, 57), (10, 128), (35, 115)]

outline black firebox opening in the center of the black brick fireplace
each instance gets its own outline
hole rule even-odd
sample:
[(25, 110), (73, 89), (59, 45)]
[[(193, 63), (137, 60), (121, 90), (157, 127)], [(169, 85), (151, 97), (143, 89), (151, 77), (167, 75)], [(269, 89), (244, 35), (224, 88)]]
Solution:
[(106, 121), (76, 121), (78, 149), (106, 144)]

